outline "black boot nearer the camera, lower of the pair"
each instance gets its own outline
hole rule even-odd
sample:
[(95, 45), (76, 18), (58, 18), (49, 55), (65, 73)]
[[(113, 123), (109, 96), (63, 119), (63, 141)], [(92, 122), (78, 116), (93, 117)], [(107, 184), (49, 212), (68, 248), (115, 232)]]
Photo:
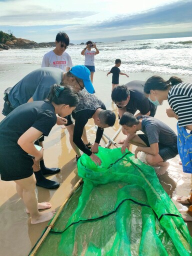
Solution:
[(59, 187), (58, 182), (45, 178), (42, 175), (41, 170), (34, 171), (34, 175), (35, 175), (35, 178), (36, 178), (36, 185), (37, 186), (42, 186), (42, 187), (48, 188), (48, 189), (54, 189), (54, 188)]

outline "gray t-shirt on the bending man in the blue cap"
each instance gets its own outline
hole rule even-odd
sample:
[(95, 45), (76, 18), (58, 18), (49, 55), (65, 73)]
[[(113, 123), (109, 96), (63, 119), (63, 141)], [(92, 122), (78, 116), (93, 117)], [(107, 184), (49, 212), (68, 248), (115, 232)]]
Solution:
[(12, 107), (26, 103), (29, 98), (44, 100), (54, 83), (60, 84), (63, 70), (56, 67), (41, 67), (25, 75), (9, 91)]

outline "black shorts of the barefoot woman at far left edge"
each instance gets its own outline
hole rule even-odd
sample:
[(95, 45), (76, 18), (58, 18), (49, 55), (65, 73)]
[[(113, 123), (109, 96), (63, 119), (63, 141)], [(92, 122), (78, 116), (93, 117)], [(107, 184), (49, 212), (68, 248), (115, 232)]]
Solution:
[(30, 177), (33, 160), (26, 152), (0, 152), (0, 176), (2, 180), (17, 180)]

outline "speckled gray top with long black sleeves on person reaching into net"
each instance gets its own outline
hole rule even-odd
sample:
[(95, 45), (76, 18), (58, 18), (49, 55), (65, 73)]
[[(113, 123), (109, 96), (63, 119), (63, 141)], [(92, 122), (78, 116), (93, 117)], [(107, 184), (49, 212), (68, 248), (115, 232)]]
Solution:
[[(83, 128), (88, 119), (92, 117), (97, 108), (106, 109), (104, 103), (98, 99), (94, 94), (90, 94), (85, 90), (78, 92), (79, 103), (72, 111), (72, 117), (75, 119), (73, 142), (85, 154), (91, 155), (91, 151), (83, 143), (81, 136)], [(103, 134), (103, 129), (100, 127), (96, 130), (95, 142), (99, 143)]]

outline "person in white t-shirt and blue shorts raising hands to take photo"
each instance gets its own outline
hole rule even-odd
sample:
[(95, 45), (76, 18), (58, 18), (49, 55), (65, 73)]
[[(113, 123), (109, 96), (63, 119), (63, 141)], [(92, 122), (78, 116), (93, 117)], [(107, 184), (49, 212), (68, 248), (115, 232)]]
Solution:
[[(91, 50), (91, 48), (95, 48), (95, 50)], [(96, 47), (96, 43), (92, 41), (86, 42), (86, 47), (81, 51), (81, 55), (84, 55), (84, 65), (90, 70), (90, 80), (93, 80), (93, 74), (95, 72), (94, 68), (94, 55), (98, 54), (99, 50)]]

